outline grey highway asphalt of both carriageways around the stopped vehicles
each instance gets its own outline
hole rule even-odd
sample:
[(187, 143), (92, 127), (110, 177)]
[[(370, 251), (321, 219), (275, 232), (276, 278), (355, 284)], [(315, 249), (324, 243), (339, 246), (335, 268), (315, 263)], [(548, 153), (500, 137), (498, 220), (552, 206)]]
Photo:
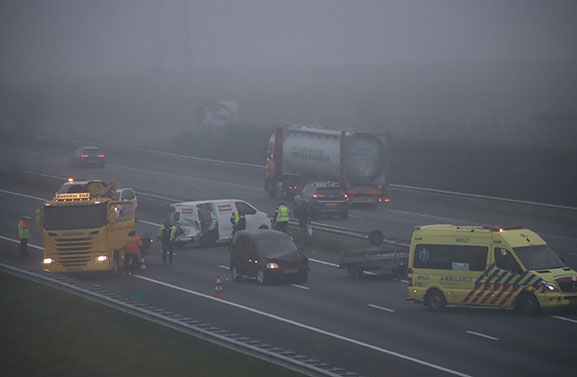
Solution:
[[(0, 160), (23, 169), (59, 176), (118, 180), (124, 186), (169, 197), (234, 197), (272, 213), (278, 200), (269, 199), (258, 174), (244, 168), (218, 169), (182, 161), (146, 161), (107, 151), (104, 169), (73, 169), (69, 150), (47, 146), (0, 145)], [(73, 148), (70, 148), (72, 150)], [(223, 171), (224, 170), (224, 171)], [(250, 170), (250, 169), (249, 169)], [(2, 257), (14, 257), (16, 222), (32, 214), (52, 187), (0, 183)], [(348, 220), (321, 222), (357, 230), (380, 229), (387, 237), (408, 241), (413, 226), (431, 223), (529, 223), (571, 264), (577, 263), (574, 224), (510, 218), (471, 209), (442, 208), (395, 202), (384, 209), (353, 209)], [(155, 234), (161, 215), (144, 209), (139, 232)], [(33, 229), (32, 244), (41, 246)], [(178, 250), (172, 265), (163, 266), (157, 247), (147, 258), (146, 278), (108, 279), (79, 275), (93, 284), (122, 294), (143, 290), (144, 300), (271, 344), (294, 349), (367, 376), (566, 376), (577, 374), (577, 315), (547, 313), (523, 317), (503, 309), (452, 308), (431, 313), (404, 300), (404, 282), (390, 276), (353, 280), (334, 266), (335, 256), (306, 250), (311, 263), (309, 282), (258, 286), (233, 282), (226, 246)], [(29, 263), (39, 266), (40, 255)], [(224, 297), (212, 298), (216, 275), (223, 278)]]

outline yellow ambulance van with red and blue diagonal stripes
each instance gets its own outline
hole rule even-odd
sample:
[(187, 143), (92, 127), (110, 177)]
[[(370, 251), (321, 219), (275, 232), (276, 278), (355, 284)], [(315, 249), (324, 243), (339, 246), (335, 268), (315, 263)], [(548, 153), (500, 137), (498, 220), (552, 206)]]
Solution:
[(415, 228), (409, 295), (433, 311), (446, 305), (541, 309), (577, 307), (577, 272), (535, 232), (521, 228)]

